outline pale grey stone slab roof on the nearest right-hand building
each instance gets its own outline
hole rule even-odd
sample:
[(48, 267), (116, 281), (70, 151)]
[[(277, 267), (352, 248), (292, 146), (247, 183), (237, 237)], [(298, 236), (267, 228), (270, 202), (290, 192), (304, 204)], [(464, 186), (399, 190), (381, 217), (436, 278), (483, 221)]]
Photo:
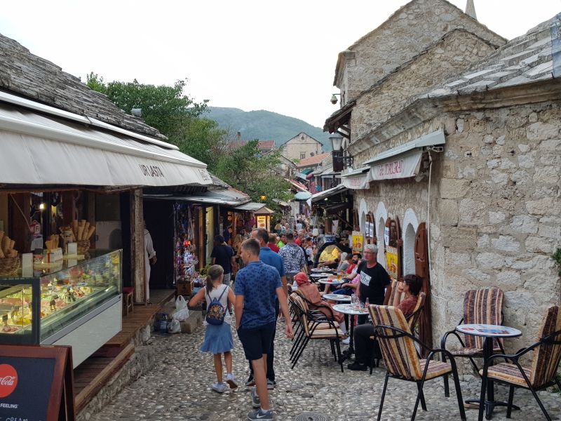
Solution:
[(557, 18), (550, 19), (508, 41), (466, 74), (430, 91), (428, 98), (468, 95), (553, 79), (550, 28), (557, 22)]

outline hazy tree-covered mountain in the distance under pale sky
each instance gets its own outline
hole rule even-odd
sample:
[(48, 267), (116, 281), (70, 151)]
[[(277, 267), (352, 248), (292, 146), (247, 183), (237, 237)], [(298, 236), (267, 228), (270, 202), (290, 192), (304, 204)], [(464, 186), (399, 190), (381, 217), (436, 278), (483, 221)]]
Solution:
[(204, 116), (216, 121), (218, 126), (229, 130), (232, 135), (241, 132), (243, 140), (274, 140), (278, 147), (298, 133), (304, 132), (321, 142), (325, 151), (331, 149), (329, 133), (306, 121), (276, 112), (263, 109), (243, 111), (238, 108), (208, 107), (208, 112)]

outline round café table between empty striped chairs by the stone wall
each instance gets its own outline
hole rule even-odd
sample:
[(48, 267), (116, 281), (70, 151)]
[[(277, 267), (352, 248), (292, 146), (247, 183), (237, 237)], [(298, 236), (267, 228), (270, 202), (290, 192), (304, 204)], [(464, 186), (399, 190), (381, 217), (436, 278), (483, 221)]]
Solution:
[[(522, 336), (522, 332), (515, 328), (508, 328), (507, 326), (487, 325), (487, 324), (461, 324), (456, 326), (456, 330), (464, 335), (481, 336), (485, 338), (483, 342), (483, 360), (487, 362), (493, 355), (493, 342), (497, 338), (518, 338)], [(481, 405), (480, 399), (469, 399), (466, 401), (468, 404), (475, 403)], [(495, 401), (493, 380), (487, 378), (487, 399), (483, 402), (485, 405), (485, 419), (490, 420), (493, 416), (495, 406), (508, 406), (508, 403), (502, 401)], [(513, 408), (520, 409), (518, 406), (513, 405)], [(481, 421), (481, 419), (479, 420)]]

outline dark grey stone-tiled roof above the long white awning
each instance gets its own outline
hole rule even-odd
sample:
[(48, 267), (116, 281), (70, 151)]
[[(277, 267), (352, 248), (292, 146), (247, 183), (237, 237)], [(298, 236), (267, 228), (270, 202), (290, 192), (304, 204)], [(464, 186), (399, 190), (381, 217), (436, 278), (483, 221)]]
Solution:
[(92, 91), (76, 76), (29, 52), (0, 34), (0, 89), (75, 114), (156, 138), (155, 128), (116, 107), (102, 93)]

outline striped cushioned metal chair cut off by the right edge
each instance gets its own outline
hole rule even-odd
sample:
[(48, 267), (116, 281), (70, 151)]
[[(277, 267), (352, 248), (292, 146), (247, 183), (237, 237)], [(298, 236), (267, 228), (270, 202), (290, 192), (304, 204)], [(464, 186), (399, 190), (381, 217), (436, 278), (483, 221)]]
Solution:
[[(521, 366), (518, 360), (527, 352), (534, 352), (532, 363), (529, 367)], [(492, 366), (496, 359), (506, 359), (506, 363), (498, 363)], [(561, 309), (558, 306), (549, 307), (541, 321), (538, 333), (538, 342), (527, 348), (520, 349), (515, 355), (496, 354), (485, 362), (480, 374), (483, 377), (481, 396), (485, 397), (487, 377), (501, 382), (510, 387), (508, 391), (508, 406), (506, 417), (511, 417), (513, 408), (514, 388), (522, 387), (532, 391), (546, 420), (551, 421), (546, 408), (543, 407), (536, 391), (557, 384), (561, 389), (561, 382), (557, 377), (557, 368), (561, 361)], [(483, 419), (482, 406), (480, 408), (479, 420)]]

